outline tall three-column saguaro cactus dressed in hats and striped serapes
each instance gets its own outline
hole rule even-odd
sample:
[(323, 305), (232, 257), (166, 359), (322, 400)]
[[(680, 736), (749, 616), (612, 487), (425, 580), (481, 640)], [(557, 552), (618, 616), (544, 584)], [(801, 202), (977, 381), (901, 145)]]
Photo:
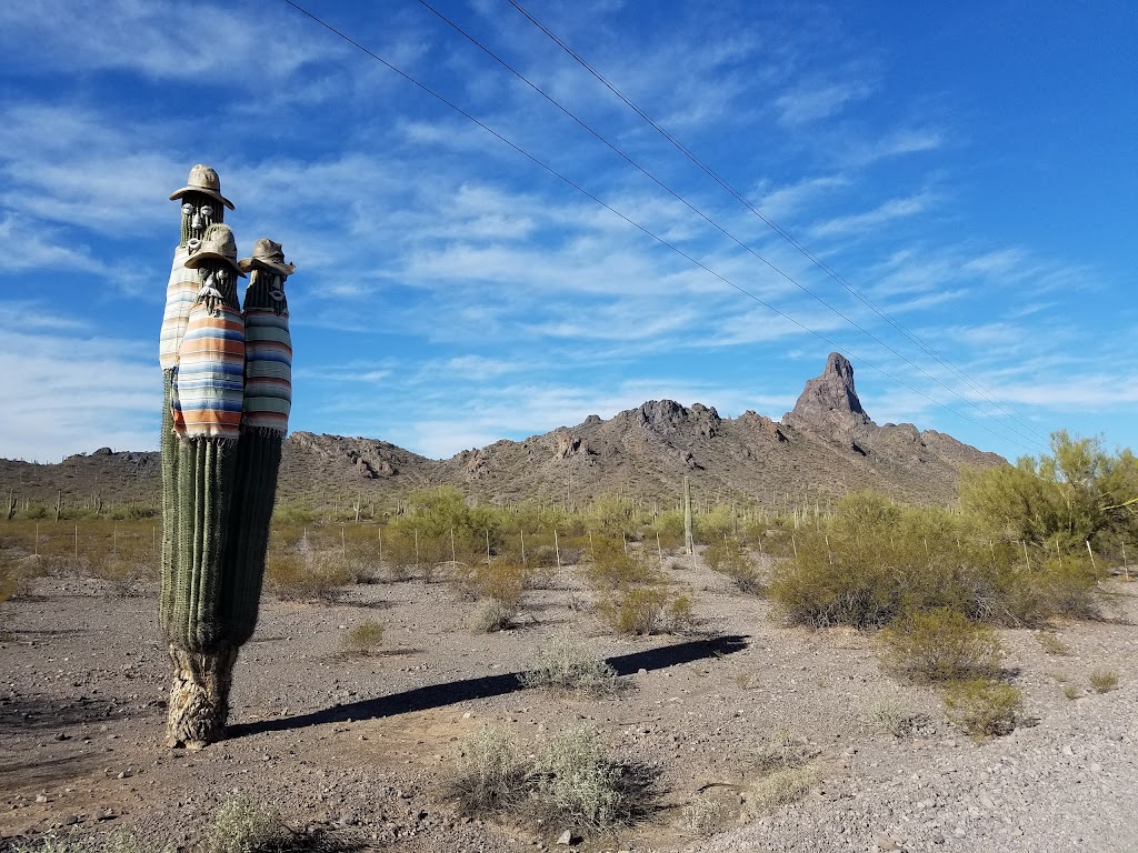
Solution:
[[(233, 665), (256, 624), (288, 420), (291, 343), (281, 285), (292, 268), (255, 273), (241, 313), (237, 278), (253, 259), (238, 264), (233, 234), (221, 222), (223, 205), (232, 205), (220, 190), (213, 169), (195, 166), (189, 185), (171, 196), (184, 199), (160, 347), (159, 622), (173, 669), (171, 746), (200, 747), (224, 736)], [(267, 334), (256, 316), (262, 303), (274, 318)], [(257, 404), (266, 387), (278, 397), (271, 436)]]

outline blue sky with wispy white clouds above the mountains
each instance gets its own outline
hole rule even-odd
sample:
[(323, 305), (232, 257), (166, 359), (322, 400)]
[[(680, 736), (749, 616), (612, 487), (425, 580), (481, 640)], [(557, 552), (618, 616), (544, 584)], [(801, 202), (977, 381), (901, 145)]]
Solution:
[(1138, 446), (1138, 6), (519, 0), (839, 282), (508, 0), (432, 6), (651, 177), (420, 2), (298, 2), (611, 209), (281, 0), (5, 3), (0, 455), (157, 446), (195, 163), (297, 265), (294, 430), (778, 419), (841, 348), (879, 423)]

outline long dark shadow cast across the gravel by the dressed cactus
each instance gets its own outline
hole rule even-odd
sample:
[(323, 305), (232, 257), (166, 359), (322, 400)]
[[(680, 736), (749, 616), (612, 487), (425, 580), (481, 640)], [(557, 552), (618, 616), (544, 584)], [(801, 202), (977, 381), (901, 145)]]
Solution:
[[(747, 648), (747, 637), (740, 635), (686, 640), (668, 646), (648, 648), (643, 652), (613, 655), (607, 659), (607, 663), (617, 671), (618, 676), (629, 676), (640, 670), (660, 670), (709, 657), (725, 657)], [(445, 707), (457, 702), (504, 696), (519, 690), (534, 689), (526, 688), (522, 685), (521, 677), (523, 674), (523, 672), (503, 672), (496, 676), (464, 678), (439, 685), (417, 687), (412, 690), (404, 690), (389, 696), (376, 696), (374, 698), (361, 699), (344, 705), (337, 704), (320, 711), (311, 711), (294, 717), (236, 723), (228, 728), (226, 736), (232, 739), (270, 731), (290, 731), (292, 729), (322, 726), (330, 722), (377, 720), (385, 717), (412, 713), (414, 711)]]

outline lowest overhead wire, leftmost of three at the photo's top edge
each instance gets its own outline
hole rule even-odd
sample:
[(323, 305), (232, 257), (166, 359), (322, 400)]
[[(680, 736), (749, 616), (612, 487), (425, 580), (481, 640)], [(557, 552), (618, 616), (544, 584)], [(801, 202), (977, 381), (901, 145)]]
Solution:
[[(544, 163), (543, 160), (538, 159), (536, 156), (529, 154), (523, 148), (521, 148), (520, 146), (518, 146), (516, 142), (511, 141), (506, 136), (504, 136), (501, 133), (498, 133), (497, 131), (495, 131), (489, 125), (487, 125), (484, 122), (481, 122), (480, 119), (476, 118), (473, 115), (471, 115), (470, 113), (468, 113), (467, 110), (464, 110), (462, 107), (460, 107), (459, 105), (456, 105), (453, 101), (451, 101), (450, 99), (447, 99), (445, 96), (436, 92), (434, 89), (431, 89), (430, 86), (428, 86), (426, 83), (422, 83), (421, 81), (419, 81), (415, 77), (411, 76), (410, 74), (407, 74), (403, 69), (401, 69), (397, 66), (393, 65), (391, 63), (387, 61), (386, 59), (384, 59), (378, 53), (373, 52), (372, 50), (370, 50), (365, 45), (363, 45), (360, 42), (355, 41), (352, 36), (347, 35), (341, 30), (338, 30), (337, 27), (332, 26), (328, 22), (323, 20), (319, 16), (314, 15), (313, 13), (308, 11), (304, 7), (302, 7), (298, 3), (296, 3), (294, 0), (283, 0), (283, 2), (286, 2), (288, 6), (290, 6), (294, 9), (296, 9), (298, 13), (300, 13), (305, 17), (312, 19), (313, 22), (315, 22), (320, 26), (324, 27), (330, 33), (332, 33), (336, 36), (343, 39), (344, 41), (346, 41), (348, 44), (351, 44), (352, 47), (356, 48), (361, 52), (365, 53), (366, 56), (371, 57), (376, 61), (380, 63), (381, 65), (384, 65), (388, 69), (390, 69), (394, 73), (398, 74), (401, 77), (403, 77), (404, 80), (406, 80), (409, 83), (411, 83), (412, 85), (414, 85), (418, 89), (422, 90), (427, 94), (431, 96), (432, 98), (435, 98), (436, 100), (438, 100), (440, 103), (450, 107), (451, 109), (453, 109), (454, 111), (456, 111), (459, 115), (463, 116), (468, 121), (470, 121), (473, 124), (478, 125), (484, 131), (486, 131), (492, 136), (494, 136), (495, 139), (497, 139), (500, 142), (502, 142), (503, 144), (508, 146), (509, 148), (511, 148), (512, 150), (514, 150), (516, 152), (518, 152), (519, 155), (521, 155), (522, 157), (525, 157), (526, 159), (528, 159), (534, 165), (541, 167), (542, 169), (544, 169), (545, 172), (547, 172), (552, 176), (556, 177), (558, 180), (562, 181), (564, 184), (567, 184), (568, 187), (575, 189), (577, 192), (582, 193), (583, 196), (585, 196), (586, 198), (591, 199), (592, 201), (595, 201), (597, 205), (600, 205), (601, 207), (603, 207), (609, 213), (613, 214), (615, 216), (617, 216), (618, 218), (620, 218), (625, 223), (632, 225), (637, 231), (642, 232), (646, 237), (649, 237), (652, 240), (657, 241), (661, 246), (665, 246), (666, 248), (668, 248), (671, 251), (676, 252), (677, 255), (679, 255), (682, 258), (684, 258), (688, 263), (693, 264), (694, 266), (698, 266), (699, 268), (703, 270), (709, 275), (711, 275), (711, 276), (718, 279), (719, 281), (721, 281), (724, 284), (727, 284), (729, 288), (732, 288), (732, 289), (739, 291), (740, 293), (742, 293), (743, 296), (747, 296), (748, 298), (752, 299), (753, 301), (756, 301), (757, 304), (761, 305), (767, 310), (769, 310), (769, 312), (778, 315), (780, 317), (782, 317), (783, 320), (787, 321), (789, 323), (798, 326), (802, 331), (805, 331), (805, 332), (807, 332), (809, 334), (813, 334), (815, 338), (817, 338), (818, 340), (823, 341), (827, 346), (832, 347), (836, 351), (842, 353), (842, 354), (847, 355), (848, 357), (853, 357), (860, 364), (864, 364), (867, 367), (876, 371), (877, 373), (880, 373), (881, 375), (885, 376), (890, 381), (896, 382), (897, 384), (899, 384), (900, 387), (902, 387), (906, 390), (910, 391), (912, 394), (915, 394), (918, 397), (922, 397), (922, 398), (926, 399), (929, 403), (933, 404), (934, 406), (937, 406), (939, 408), (945, 409), (949, 414), (953, 414), (956, 417), (959, 417), (960, 420), (966, 421), (967, 423), (972, 424), (973, 426), (976, 426), (978, 429), (981, 429), (981, 430), (983, 430), (983, 431), (986, 431), (986, 432), (988, 432), (988, 433), (990, 433), (992, 436), (996, 436), (999, 439), (1003, 439), (1005, 441), (1009, 440), (1007, 436), (1001, 436), (998, 432), (996, 432), (995, 430), (992, 430), (990, 426), (988, 426), (988, 425), (986, 425), (983, 423), (980, 423), (978, 421), (974, 421), (971, 417), (968, 417), (967, 415), (962, 414), (960, 412), (957, 412), (951, 406), (949, 406), (949, 405), (947, 405), (945, 403), (941, 403), (940, 400), (938, 400), (934, 397), (930, 396), (929, 394), (920, 390), (918, 388), (914, 388), (913, 386), (910, 386), (909, 383), (905, 382), (904, 380), (898, 379), (897, 376), (890, 374), (884, 368), (879, 367), (876, 364), (874, 364), (874, 363), (869, 362), (868, 359), (863, 358), (861, 356), (855, 354), (849, 348), (842, 347), (836, 341), (831, 340), (830, 338), (827, 338), (822, 332), (818, 332), (818, 331), (816, 331), (814, 329), (810, 329), (805, 323), (795, 320), (794, 317), (792, 317), (791, 315), (786, 314), (785, 312), (780, 310), (774, 305), (770, 305), (769, 303), (767, 303), (766, 300), (764, 300), (760, 297), (756, 296), (751, 291), (749, 291), (745, 288), (736, 284), (735, 282), (731, 281), (729, 279), (727, 279), (723, 274), (720, 274), (720, 273), (716, 272), (715, 270), (712, 270), (711, 267), (707, 266), (704, 263), (702, 263), (698, 258), (692, 257), (686, 251), (684, 251), (683, 249), (681, 249), (678, 246), (671, 243), (670, 241), (668, 241), (667, 239), (660, 237), (659, 234), (654, 233), (653, 231), (649, 230), (644, 225), (641, 225), (635, 220), (633, 220), (633, 218), (626, 216), (625, 214), (620, 213), (620, 210), (616, 209), (615, 207), (612, 207), (611, 205), (609, 205), (608, 202), (605, 202), (603, 199), (601, 199), (600, 197), (597, 197), (593, 192), (588, 191), (587, 189), (585, 189), (580, 184), (576, 183), (575, 181), (572, 181), (567, 175), (563, 175), (562, 173), (558, 172), (551, 165), (549, 165), (549, 164)], [(764, 262), (764, 263), (767, 263), (769, 265), (769, 262)], [(774, 267), (772, 267), (772, 268), (774, 268)], [(785, 273), (782, 273), (781, 271), (778, 271), (778, 272), (784, 278), (787, 278), (790, 281), (793, 282), (793, 279), (790, 279), (790, 276), (786, 276)], [(797, 282), (794, 282), (794, 283), (797, 284)], [(1012, 440), (1012, 444), (1016, 444), (1020, 447), (1024, 447), (1019, 441)]]

